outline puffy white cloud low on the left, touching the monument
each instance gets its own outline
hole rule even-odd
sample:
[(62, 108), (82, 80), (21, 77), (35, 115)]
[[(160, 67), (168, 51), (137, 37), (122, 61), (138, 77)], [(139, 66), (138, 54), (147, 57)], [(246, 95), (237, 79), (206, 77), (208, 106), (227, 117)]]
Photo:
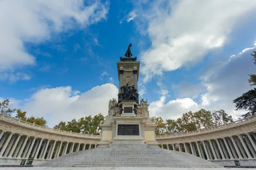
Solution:
[[(28, 116), (44, 116), (49, 127), (53, 127), (60, 121), (71, 121), (98, 113), (107, 116), (108, 101), (116, 98), (117, 94), (118, 88), (110, 83), (98, 85), (81, 94), (79, 91), (73, 91), (70, 86), (42, 88), (29, 99), (12, 99), (10, 103), (14, 101), (16, 104), (12, 102), (12, 106), (27, 111)], [(25, 104), (17, 106), (19, 102)]]

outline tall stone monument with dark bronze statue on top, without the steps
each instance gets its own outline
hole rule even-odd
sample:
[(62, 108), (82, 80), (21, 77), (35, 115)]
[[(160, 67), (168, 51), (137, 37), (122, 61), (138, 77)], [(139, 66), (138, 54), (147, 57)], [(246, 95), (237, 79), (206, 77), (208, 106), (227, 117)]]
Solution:
[[(99, 147), (116, 143), (133, 143), (138, 145), (158, 147), (154, 129), (148, 112), (148, 101), (140, 100), (138, 94), (138, 79), (140, 62), (132, 57), (131, 44), (117, 62), (119, 79), (118, 101), (109, 101), (108, 116), (102, 127), (102, 139)], [(134, 147), (134, 146), (132, 146)]]

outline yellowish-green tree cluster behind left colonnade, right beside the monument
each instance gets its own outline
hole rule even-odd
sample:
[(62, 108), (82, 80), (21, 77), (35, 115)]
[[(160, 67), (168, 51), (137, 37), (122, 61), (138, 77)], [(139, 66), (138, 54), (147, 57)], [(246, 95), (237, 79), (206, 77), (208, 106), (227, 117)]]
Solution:
[(60, 130), (66, 130), (76, 133), (84, 133), (84, 134), (94, 134), (99, 135), (101, 133), (102, 128), (99, 127), (100, 124), (104, 123), (105, 117), (102, 115), (102, 113), (99, 113), (98, 115), (92, 117), (86, 116), (81, 117), (78, 119), (71, 120), (70, 122), (59, 122), (58, 125), (55, 125), (53, 128), (60, 129)]

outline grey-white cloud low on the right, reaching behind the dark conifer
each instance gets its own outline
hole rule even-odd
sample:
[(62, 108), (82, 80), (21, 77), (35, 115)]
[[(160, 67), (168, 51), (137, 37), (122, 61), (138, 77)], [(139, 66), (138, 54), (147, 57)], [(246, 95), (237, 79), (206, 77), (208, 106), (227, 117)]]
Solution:
[[(223, 109), (234, 119), (238, 119), (246, 111), (235, 111), (233, 100), (252, 89), (247, 81), (249, 78), (247, 75), (255, 73), (256, 66), (250, 55), (255, 49), (256, 47), (246, 48), (239, 54), (229, 57), (227, 62), (209, 65), (201, 76), (201, 84), (198, 85), (200, 88), (204, 86), (207, 89), (206, 93), (201, 94), (201, 101), (195, 102), (193, 99), (185, 97), (166, 103), (166, 96), (161, 96), (159, 100), (150, 103), (150, 116), (177, 119), (188, 111), (205, 108), (209, 111)], [(181, 96), (194, 96), (201, 93), (198, 88), (195, 88), (195, 85), (190, 88), (186, 84), (185, 87), (184, 82), (181, 85), (175, 85), (174, 89), (176, 90), (177, 87), (179, 87)], [(189, 92), (186, 89), (191, 91), (195, 89), (196, 91)]]

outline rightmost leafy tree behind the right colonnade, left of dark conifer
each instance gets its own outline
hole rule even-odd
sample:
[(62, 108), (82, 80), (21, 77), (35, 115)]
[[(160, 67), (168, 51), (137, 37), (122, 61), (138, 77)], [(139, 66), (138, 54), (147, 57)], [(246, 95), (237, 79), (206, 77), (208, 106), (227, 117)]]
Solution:
[(224, 125), (225, 123), (233, 122), (232, 116), (228, 115), (224, 110), (212, 111), (212, 124), (213, 126)]

